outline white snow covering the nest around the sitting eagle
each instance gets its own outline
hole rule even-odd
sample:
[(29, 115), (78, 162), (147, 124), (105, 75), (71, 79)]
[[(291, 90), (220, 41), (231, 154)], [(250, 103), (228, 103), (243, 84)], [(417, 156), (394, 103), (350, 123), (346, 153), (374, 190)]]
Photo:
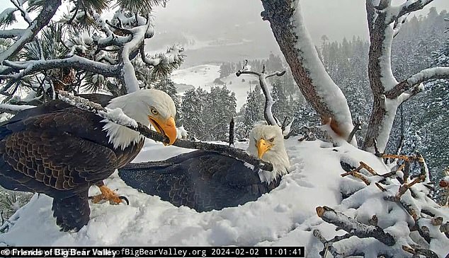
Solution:
[[(238, 147), (246, 148), (245, 144), (239, 143)], [(315, 211), (317, 206), (330, 206), (362, 222), (377, 214), (379, 225), (398, 239), (394, 250), (402, 252), (402, 245), (411, 242), (407, 222), (412, 220), (397, 204), (383, 205), (387, 193), (374, 184), (365, 187), (360, 180), (340, 176), (344, 172), (340, 160), (351, 164), (363, 160), (380, 174), (389, 172), (381, 160), (347, 143), (332, 147), (322, 141), (299, 142), (290, 138), (286, 148), (292, 164), (290, 174), (283, 177), (278, 188), (243, 206), (203, 213), (178, 208), (127, 187), (115, 173), (106, 185), (128, 197), (129, 206), (90, 204), (89, 224), (78, 233), (62, 233), (52, 218), (52, 199), (35, 195), (11, 218), (13, 226), (8, 233), (0, 234), (0, 245), (304, 245), (307, 257), (320, 257), (323, 245), (312, 231), (319, 229), (326, 239), (345, 232), (336, 232), (334, 225), (322, 221)], [(159, 160), (186, 151), (191, 150), (147, 141), (135, 162)], [(397, 188), (389, 191), (394, 194)], [(90, 194), (97, 192), (92, 187)], [(342, 201), (341, 193), (348, 192), (356, 193)], [(448, 221), (448, 208), (436, 208), (433, 212)], [(368, 250), (363, 250), (367, 257), (386, 247), (373, 238), (365, 241), (370, 241)], [(360, 242), (351, 238), (334, 247), (356, 247)], [(436, 238), (427, 247), (444, 257), (449, 252), (449, 239)]]

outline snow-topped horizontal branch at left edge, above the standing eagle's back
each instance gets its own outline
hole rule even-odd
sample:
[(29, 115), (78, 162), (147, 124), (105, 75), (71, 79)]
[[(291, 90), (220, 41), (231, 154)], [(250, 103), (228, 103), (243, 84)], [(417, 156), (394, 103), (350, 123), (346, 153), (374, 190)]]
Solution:
[(6, 74), (9, 72), (0, 73), (0, 78), (22, 78), (33, 74), (37, 71), (48, 70), (48, 69), (60, 69), (64, 67), (70, 67), (75, 69), (82, 69), (85, 71), (91, 71), (95, 74), (102, 74), (106, 77), (117, 77), (119, 76), (118, 65), (103, 64), (98, 61), (92, 61), (84, 57), (73, 56), (66, 59), (52, 59), (52, 60), (30, 60), (30, 61), (8, 61), (5, 60), (4, 64), (20, 71), (16, 74)]

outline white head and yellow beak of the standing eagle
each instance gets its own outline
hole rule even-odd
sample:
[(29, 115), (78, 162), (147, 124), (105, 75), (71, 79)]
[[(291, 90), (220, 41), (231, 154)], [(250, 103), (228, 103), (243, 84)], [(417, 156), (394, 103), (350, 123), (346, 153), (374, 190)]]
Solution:
[[(142, 124), (152, 124), (161, 134), (169, 138), (169, 144), (176, 141), (175, 115), (176, 107), (167, 93), (161, 90), (137, 90), (133, 93), (113, 98), (108, 106), (110, 109), (120, 107), (123, 113)], [(109, 142), (114, 148), (126, 148), (131, 143), (137, 143), (144, 136), (119, 124), (106, 122), (103, 130), (108, 132)]]

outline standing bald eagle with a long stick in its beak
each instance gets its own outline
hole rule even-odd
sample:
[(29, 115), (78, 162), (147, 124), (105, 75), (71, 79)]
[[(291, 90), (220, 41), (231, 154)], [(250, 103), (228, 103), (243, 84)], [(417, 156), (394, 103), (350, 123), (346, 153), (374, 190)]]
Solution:
[[(153, 124), (176, 140), (173, 100), (160, 90), (139, 90), (112, 98), (87, 95), (142, 124)], [(103, 180), (137, 156), (144, 143), (138, 132), (80, 110), (61, 100), (19, 112), (0, 124), (0, 184), (11, 190), (53, 197), (53, 215), (62, 230), (79, 230), (89, 221), (88, 190), (94, 201), (120, 202)]]

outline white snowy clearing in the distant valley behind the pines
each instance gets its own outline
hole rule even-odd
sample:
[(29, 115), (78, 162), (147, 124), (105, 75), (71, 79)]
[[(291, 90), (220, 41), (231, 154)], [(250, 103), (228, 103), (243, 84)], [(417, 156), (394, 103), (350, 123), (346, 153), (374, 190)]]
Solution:
[[(176, 83), (178, 93), (181, 95), (184, 91), (193, 87), (201, 87), (204, 90), (210, 91), (210, 87), (218, 86), (218, 84), (214, 83), (214, 81), (219, 77), (220, 66), (215, 64), (204, 64), (188, 69), (179, 69), (174, 71), (171, 75), (171, 79), (174, 83)], [(221, 81), (226, 83), (226, 87), (235, 93), (235, 98), (237, 99), (237, 112), (245, 104), (246, 96), (248, 95), (250, 88), (254, 89), (256, 86), (254, 83), (250, 86), (250, 82), (257, 81), (258, 84), (258, 78), (246, 74), (239, 77), (235, 74), (231, 74), (227, 77), (221, 78)]]

